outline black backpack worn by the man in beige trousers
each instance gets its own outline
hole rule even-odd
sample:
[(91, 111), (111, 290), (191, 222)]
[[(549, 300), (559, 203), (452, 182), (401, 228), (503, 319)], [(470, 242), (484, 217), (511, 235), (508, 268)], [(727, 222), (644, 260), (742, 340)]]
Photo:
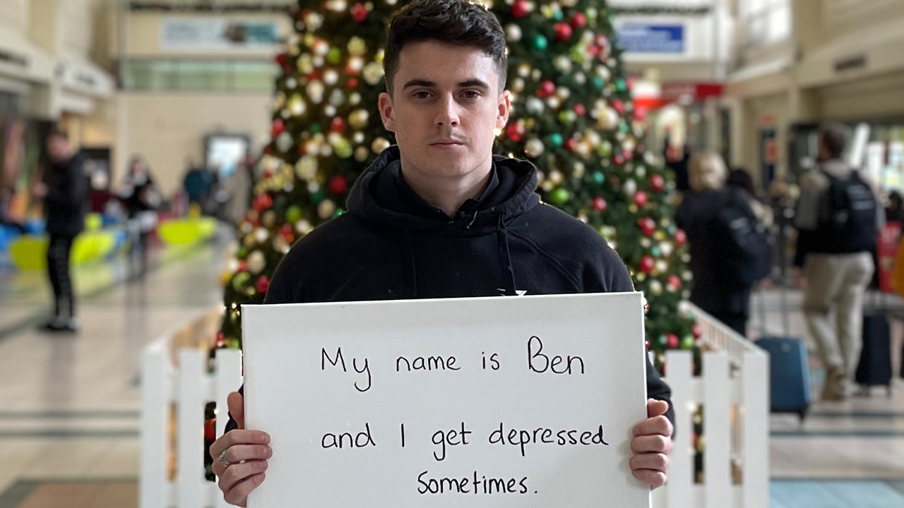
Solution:
[(876, 246), (878, 203), (860, 173), (846, 179), (823, 172), (829, 179), (828, 217), (821, 224), (821, 237), (829, 253), (869, 252)]

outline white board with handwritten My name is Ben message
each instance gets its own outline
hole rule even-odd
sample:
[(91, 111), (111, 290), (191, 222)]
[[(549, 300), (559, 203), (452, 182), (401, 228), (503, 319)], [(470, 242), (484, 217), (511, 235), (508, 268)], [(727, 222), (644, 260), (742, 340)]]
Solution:
[(242, 308), (250, 508), (649, 506), (639, 293)]

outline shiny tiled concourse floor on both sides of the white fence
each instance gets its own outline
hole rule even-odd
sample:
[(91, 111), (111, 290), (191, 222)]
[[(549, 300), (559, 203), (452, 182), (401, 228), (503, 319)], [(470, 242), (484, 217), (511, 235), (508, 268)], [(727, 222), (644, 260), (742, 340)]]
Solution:
[[(141, 349), (221, 302), (223, 252), (166, 252), (143, 282), (124, 282), (121, 266), (80, 269), (77, 337), (34, 329), (48, 302), (42, 273), (0, 272), (0, 508), (137, 506)], [(778, 294), (765, 300), (767, 332), (783, 333)], [(800, 295), (786, 305), (799, 309)], [(789, 333), (807, 335), (799, 311)], [(904, 325), (893, 334), (899, 352)], [(904, 381), (893, 388), (817, 401), (803, 424), (771, 417), (771, 506), (904, 508)]]

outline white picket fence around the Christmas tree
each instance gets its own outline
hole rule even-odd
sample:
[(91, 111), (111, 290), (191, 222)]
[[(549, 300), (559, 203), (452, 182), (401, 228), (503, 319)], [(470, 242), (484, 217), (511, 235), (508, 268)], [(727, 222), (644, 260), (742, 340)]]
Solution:
[[(715, 351), (702, 354), (699, 377), (692, 375), (691, 352), (666, 353), (677, 437), (668, 484), (654, 491), (653, 506), (767, 508), (768, 356), (710, 315), (688, 308), (702, 327), (702, 343)], [(227, 396), (241, 383), (241, 353), (218, 351), (210, 374), (204, 347), (176, 342), (165, 337), (144, 352), (139, 507), (225, 508), (231, 505), (216, 484), (204, 479), (203, 409), (209, 401), (226, 407)], [(706, 441), (702, 484), (695, 483), (692, 442), (699, 405)], [(225, 411), (218, 410), (218, 436), (226, 421)]]

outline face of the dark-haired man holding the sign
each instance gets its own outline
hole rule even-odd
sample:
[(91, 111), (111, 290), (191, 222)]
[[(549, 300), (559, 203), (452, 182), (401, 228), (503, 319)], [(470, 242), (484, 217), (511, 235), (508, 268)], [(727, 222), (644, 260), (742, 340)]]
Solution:
[(392, 96), (380, 96), (380, 114), (406, 173), (460, 178), (489, 169), (494, 129), (505, 127), (511, 107), (492, 57), (469, 46), (412, 43), (400, 52), (393, 85)]

